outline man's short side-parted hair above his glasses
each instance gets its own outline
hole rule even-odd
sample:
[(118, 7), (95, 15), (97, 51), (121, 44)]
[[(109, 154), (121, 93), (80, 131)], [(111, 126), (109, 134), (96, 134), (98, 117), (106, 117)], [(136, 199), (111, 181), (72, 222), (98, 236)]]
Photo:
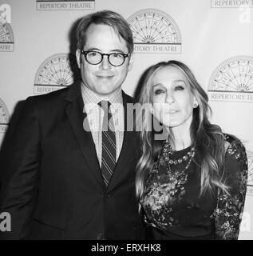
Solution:
[(77, 27), (77, 49), (83, 50), (86, 42), (86, 30), (91, 24), (105, 24), (113, 27), (121, 38), (125, 39), (127, 43), (129, 53), (133, 52), (133, 38), (132, 30), (128, 25), (128, 22), (121, 16), (112, 10), (101, 10), (93, 14), (88, 14), (81, 20)]

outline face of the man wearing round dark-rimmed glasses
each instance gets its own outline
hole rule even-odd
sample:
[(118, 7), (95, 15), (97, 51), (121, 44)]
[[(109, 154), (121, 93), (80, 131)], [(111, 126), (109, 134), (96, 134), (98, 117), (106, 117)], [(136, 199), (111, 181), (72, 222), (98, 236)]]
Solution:
[[(91, 24), (86, 31), (85, 51), (95, 50), (102, 54), (128, 54), (125, 39), (121, 38), (111, 26), (105, 24)], [(101, 63), (89, 64), (84, 54), (77, 50), (77, 64), (81, 68), (81, 78), (86, 86), (100, 95), (109, 95), (117, 90), (132, 68), (132, 58), (125, 58), (122, 66), (112, 66), (107, 56)]]

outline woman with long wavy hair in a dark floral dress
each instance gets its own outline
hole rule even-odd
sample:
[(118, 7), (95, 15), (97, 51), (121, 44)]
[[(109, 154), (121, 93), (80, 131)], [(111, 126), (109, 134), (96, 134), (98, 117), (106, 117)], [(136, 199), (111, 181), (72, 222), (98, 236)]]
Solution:
[[(237, 239), (247, 187), (247, 155), (239, 139), (208, 121), (208, 95), (188, 66), (160, 62), (146, 72), (136, 195), (148, 238)], [(168, 130), (156, 140), (151, 116)]]

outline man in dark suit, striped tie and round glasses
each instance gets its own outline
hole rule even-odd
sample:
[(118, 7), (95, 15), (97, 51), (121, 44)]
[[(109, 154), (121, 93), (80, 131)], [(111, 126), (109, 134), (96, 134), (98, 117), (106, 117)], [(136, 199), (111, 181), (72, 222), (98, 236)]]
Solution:
[(121, 15), (89, 14), (77, 27), (81, 82), (26, 99), (1, 167), (4, 238), (143, 238), (136, 134), (125, 129), (132, 98), (121, 90), (132, 51)]

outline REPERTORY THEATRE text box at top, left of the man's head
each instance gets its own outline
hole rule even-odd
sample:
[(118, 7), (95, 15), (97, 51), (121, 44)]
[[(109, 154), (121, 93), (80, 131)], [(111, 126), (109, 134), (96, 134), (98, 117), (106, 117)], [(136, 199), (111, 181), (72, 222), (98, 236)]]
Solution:
[(95, 0), (37, 0), (37, 10), (94, 10)]

